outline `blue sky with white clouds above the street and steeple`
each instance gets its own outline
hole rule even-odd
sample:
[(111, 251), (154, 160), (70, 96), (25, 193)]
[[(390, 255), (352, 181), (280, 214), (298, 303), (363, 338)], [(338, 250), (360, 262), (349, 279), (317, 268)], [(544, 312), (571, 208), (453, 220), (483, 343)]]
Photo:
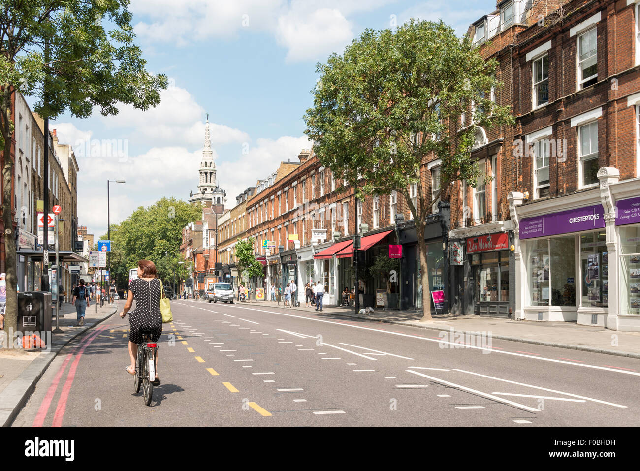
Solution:
[(126, 180), (111, 183), (111, 223), (163, 196), (195, 193), (207, 113), (216, 182), (233, 207), (244, 189), (311, 147), (303, 115), (318, 62), (366, 28), (412, 17), (442, 19), (463, 35), (495, 0), (132, 0), (130, 10), (147, 70), (169, 77), (159, 106), (51, 122), (80, 168), (78, 225), (96, 236), (107, 228), (107, 180)]

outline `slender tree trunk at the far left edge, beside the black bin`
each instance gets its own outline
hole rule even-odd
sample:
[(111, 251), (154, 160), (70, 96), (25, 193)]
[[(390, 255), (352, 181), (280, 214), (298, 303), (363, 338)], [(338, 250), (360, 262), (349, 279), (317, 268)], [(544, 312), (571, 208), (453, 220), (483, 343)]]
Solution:
[[(6, 100), (6, 93), (3, 93), (3, 108), (10, 109), (10, 100)], [(5, 115), (6, 116), (6, 115)], [(10, 115), (9, 115), (10, 118)], [(3, 120), (4, 121), (4, 120)], [(2, 169), (3, 179), (3, 222), (4, 222), (4, 271), (6, 272), (6, 308), (4, 310), (4, 331), (8, 341), (4, 348), (10, 347), (13, 342), (9, 333), (15, 333), (18, 327), (18, 294), (17, 294), (17, 264), (15, 254), (15, 232), (13, 231), (13, 215), (11, 211), (13, 193), (13, 161), (11, 159), (12, 135), (10, 122), (4, 122), (4, 164)]]

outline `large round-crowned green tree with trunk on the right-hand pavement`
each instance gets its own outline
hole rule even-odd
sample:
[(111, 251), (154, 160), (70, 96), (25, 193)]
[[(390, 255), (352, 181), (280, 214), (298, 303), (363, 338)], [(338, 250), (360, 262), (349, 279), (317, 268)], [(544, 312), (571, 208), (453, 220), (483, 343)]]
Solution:
[[(404, 196), (417, 221), (424, 293), (429, 268), (422, 221), (442, 190), (427, 193), (423, 164), (428, 156), (440, 159), (441, 189), (456, 180), (477, 185), (479, 170), (470, 156), (476, 127), (513, 120), (508, 108), (490, 99), (492, 87), (500, 86), (496, 65), (442, 21), (411, 20), (395, 33), (367, 29), (342, 56), (334, 53), (316, 68), (320, 80), (305, 132), (321, 163), (354, 186), (358, 197)], [(471, 124), (461, 128), (460, 115), (472, 102)], [(429, 320), (431, 303), (423, 305), (423, 320)]]

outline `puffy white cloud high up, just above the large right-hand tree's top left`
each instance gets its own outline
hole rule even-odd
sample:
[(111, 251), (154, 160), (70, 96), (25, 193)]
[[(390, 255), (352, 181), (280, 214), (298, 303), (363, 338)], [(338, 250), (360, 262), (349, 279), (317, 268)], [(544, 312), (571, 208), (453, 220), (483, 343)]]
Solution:
[(326, 60), (332, 52), (342, 53), (353, 37), (353, 24), (339, 10), (294, 9), (278, 18), (276, 39), (287, 47), (288, 62)]

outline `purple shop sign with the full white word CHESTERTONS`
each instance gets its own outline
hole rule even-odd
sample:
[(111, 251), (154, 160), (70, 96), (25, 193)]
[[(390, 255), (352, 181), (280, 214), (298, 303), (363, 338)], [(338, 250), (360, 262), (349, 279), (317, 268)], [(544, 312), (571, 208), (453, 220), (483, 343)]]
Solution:
[(520, 220), (520, 239), (601, 228), (604, 228), (604, 209), (601, 204), (596, 204), (524, 218)]

